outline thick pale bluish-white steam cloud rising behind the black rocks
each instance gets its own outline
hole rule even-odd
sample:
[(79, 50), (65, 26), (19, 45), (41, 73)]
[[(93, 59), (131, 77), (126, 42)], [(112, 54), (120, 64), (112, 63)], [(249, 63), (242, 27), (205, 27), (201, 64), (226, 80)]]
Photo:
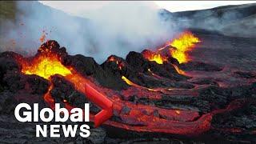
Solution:
[[(176, 33), (151, 2), (110, 2), (88, 18), (78, 18), (38, 2), (18, 2), (17, 21), (9, 24), (5, 39), (14, 39), (14, 51), (36, 53), (39, 38), (54, 39), (69, 54), (83, 54), (103, 62), (110, 54), (125, 58), (129, 51), (162, 45)], [(5, 28), (3, 28), (4, 30)], [(178, 29), (177, 29), (178, 30)]]

